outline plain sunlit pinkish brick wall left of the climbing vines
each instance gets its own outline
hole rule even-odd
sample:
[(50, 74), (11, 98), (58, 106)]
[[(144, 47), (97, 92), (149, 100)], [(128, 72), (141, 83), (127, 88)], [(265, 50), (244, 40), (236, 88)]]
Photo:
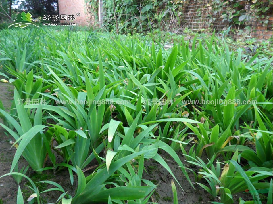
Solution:
[[(73, 22), (76, 25), (87, 26), (90, 25), (90, 15), (86, 14), (84, 0), (58, 0), (59, 2), (59, 14), (74, 15), (75, 19), (61, 20), (60, 22)], [(80, 14), (79, 16), (77, 14)]]

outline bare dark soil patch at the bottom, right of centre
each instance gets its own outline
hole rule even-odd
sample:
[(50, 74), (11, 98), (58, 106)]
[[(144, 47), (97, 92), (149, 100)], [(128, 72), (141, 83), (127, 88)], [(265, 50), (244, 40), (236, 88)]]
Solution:
[[(193, 174), (188, 172), (189, 177), (195, 187), (189, 184), (186, 176), (182, 173), (181, 168), (178, 167), (177, 163), (169, 156), (167, 152), (160, 152), (159, 153), (170, 169), (172, 170), (174, 176), (180, 183), (183, 190), (178, 186), (175, 182), (176, 189), (177, 189), (177, 197), (178, 203), (183, 204), (197, 204), (197, 203), (209, 203), (212, 200), (212, 197), (201, 188), (198, 184), (195, 184), (195, 179)], [(179, 154), (178, 154), (179, 155)], [(184, 157), (179, 155), (181, 161), (184, 163)], [(173, 203), (173, 193), (171, 187), (171, 180), (174, 178), (169, 174), (169, 172), (162, 167), (161, 164), (157, 163), (156, 161), (150, 159), (146, 161), (145, 168), (147, 172), (143, 174), (143, 178), (152, 181), (154, 184), (158, 184), (155, 192), (153, 193), (152, 197), (154, 202), (158, 204), (172, 204)]]

